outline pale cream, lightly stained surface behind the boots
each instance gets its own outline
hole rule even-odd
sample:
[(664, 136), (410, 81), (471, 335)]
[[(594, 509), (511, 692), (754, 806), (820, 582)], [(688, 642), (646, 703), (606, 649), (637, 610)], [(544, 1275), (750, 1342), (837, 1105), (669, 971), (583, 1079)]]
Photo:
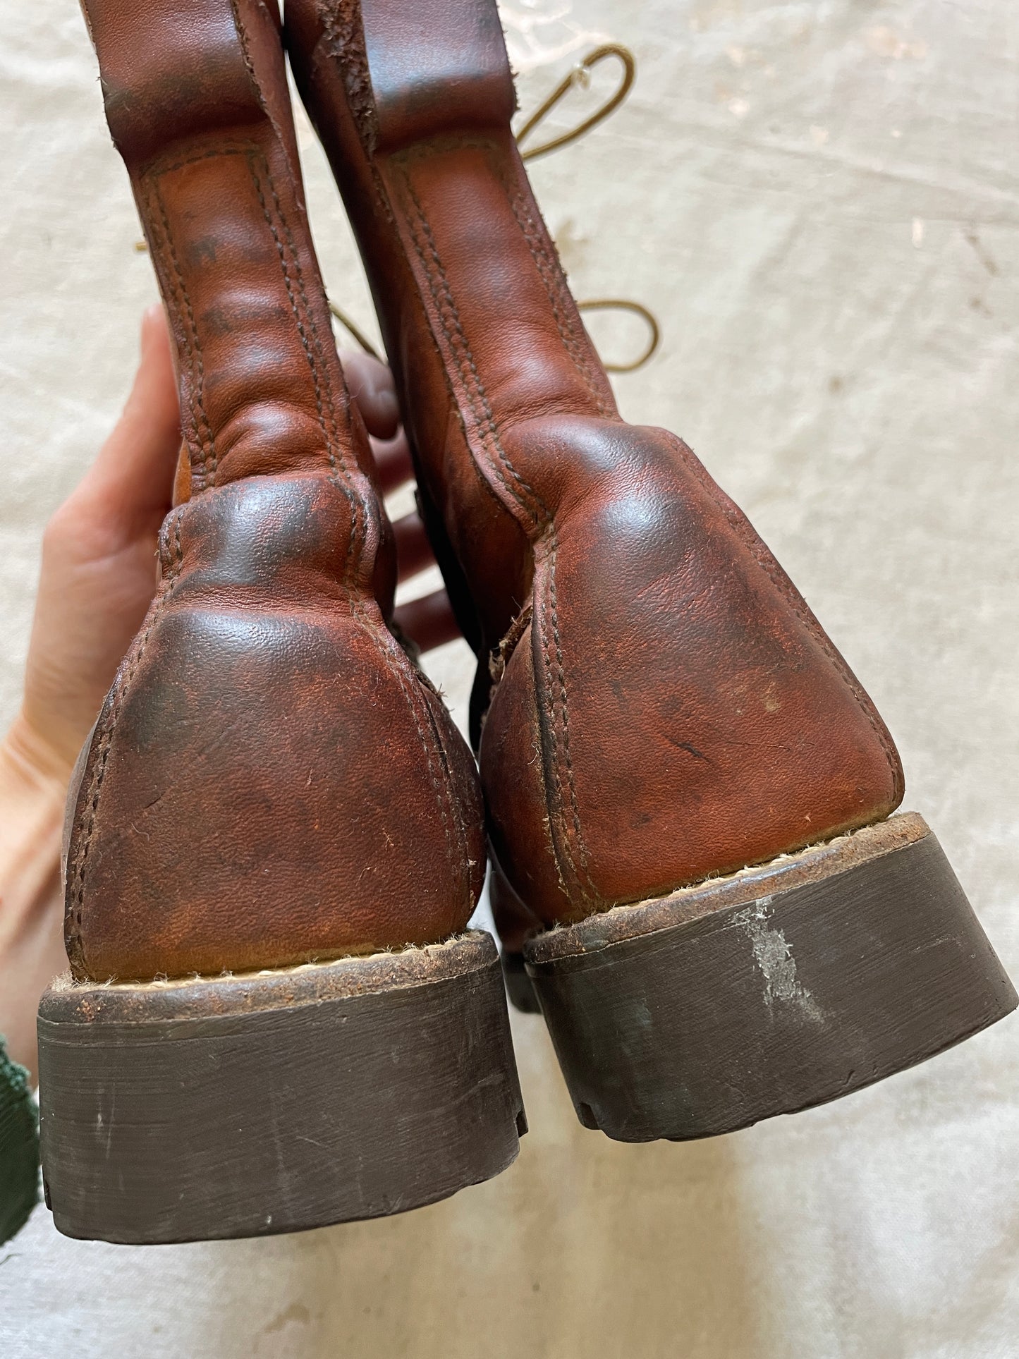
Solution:
[[(42, 525), (109, 428), (155, 288), (69, 0), (0, 0), (8, 129), (0, 716)], [(618, 379), (749, 512), (884, 713), (1019, 977), (1019, 12), (1008, 0), (514, 0), (533, 107), (603, 37), (637, 88), (535, 163), (580, 296), (651, 304)], [(564, 121), (568, 114), (564, 111)], [(367, 291), (314, 140), (330, 291)], [(634, 342), (610, 318), (606, 353)], [(433, 673), (462, 711), (465, 647)], [(992, 1359), (1019, 1352), (1019, 1021), (851, 1099), (689, 1146), (573, 1118), (515, 1021), (531, 1133), (406, 1218), (0, 1252), (0, 1349), (154, 1359)]]

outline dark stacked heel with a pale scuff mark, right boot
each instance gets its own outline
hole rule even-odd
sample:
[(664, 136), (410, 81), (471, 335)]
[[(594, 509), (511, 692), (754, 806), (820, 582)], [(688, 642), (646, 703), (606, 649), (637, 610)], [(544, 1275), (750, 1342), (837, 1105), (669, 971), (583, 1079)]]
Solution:
[(823, 1104), (1016, 1006), (916, 814), (550, 930), (524, 957), (580, 1121), (620, 1142)]

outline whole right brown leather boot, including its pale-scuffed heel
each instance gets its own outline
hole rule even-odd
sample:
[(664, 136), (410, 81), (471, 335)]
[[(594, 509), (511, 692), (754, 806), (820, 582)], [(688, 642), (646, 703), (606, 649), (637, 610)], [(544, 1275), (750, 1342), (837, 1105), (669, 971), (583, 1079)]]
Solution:
[(624, 424), (535, 205), (493, 0), (287, 0), (480, 658), (497, 909), (582, 1121), (697, 1137), (1016, 995), (880, 718), (690, 450)]

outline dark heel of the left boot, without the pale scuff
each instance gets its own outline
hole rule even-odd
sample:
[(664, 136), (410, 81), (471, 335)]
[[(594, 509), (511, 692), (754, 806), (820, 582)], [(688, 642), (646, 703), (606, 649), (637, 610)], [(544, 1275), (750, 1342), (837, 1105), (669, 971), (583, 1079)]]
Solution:
[(404, 1212), (499, 1174), (527, 1127), (480, 932), (243, 976), (61, 978), (39, 1076), (56, 1226), (130, 1243)]

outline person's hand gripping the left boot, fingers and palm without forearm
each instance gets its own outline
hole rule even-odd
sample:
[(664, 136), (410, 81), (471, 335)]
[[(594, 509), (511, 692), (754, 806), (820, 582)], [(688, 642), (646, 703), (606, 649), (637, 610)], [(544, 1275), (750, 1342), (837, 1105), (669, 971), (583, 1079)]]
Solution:
[[(372, 436), (383, 493), (413, 476), (398, 429), (393, 375), (368, 355), (342, 356)], [(170, 337), (160, 306), (141, 323), (141, 361), (124, 413), (42, 540), (42, 572), (12, 739), (45, 772), (69, 773), (156, 587), (159, 526), (171, 508), (181, 447)], [(399, 579), (433, 564), (416, 514), (394, 525)], [(444, 591), (397, 610), (423, 651), (458, 635)]]

